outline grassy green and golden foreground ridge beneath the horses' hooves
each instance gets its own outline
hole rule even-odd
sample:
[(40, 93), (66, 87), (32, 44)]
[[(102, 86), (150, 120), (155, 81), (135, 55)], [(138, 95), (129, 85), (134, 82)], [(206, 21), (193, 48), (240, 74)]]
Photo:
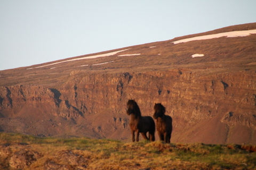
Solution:
[[(24, 169), (45, 169), (46, 163), (79, 169), (255, 169), (256, 152), (249, 152), (239, 145), (206, 145), (203, 143), (166, 144), (161, 141), (124, 143), (109, 139), (87, 138), (38, 138), (30, 135), (0, 133), (0, 143), (13, 145), (12, 153), (23, 149), (34, 150), (42, 156)], [(26, 145), (25, 145), (26, 143)], [(12, 169), (8, 158), (1, 154), (1, 168)], [(66, 152), (65, 152), (66, 151)], [(77, 163), (60, 157), (65, 152), (76, 155)], [(63, 154), (62, 154), (63, 155)], [(9, 156), (10, 157), (10, 156)], [(79, 159), (78, 159), (79, 158)], [(83, 163), (81, 160), (83, 158)], [(80, 162), (79, 162), (80, 161)], [(47, 164), (47, 165), (48, 165)], [(85, 165), (86, 164), (86, 165)], [(53, 166), (53, 165), (52, 165)], [(46, 168), (47, 169), (47, 168)]]

